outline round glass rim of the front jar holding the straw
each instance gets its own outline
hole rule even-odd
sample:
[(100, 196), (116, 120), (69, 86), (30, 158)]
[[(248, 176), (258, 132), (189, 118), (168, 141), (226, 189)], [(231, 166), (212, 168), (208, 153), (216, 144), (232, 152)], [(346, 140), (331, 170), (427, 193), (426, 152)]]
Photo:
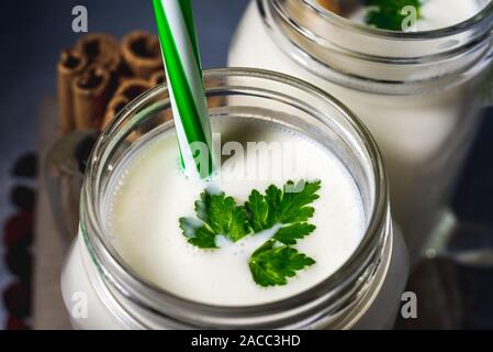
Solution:
[[(127, 108), (124, 108), (102, 132), (91, 152), (81, 193), (80, 229), (92, 261), (102, 273), (102, 276), (109, 280), (119, 293), (124, 295), (132, 302), (153, 311), (156, 311), (156, 309), (159, 308), (165, 309), (165, 307), (179, 307), (182, 311), (189, 311), (195, 315), (204, 314), (217, 318), (227, 317), (234, 319), (259, 317), (266, 312), (271, 315), (282, 315), (287, 310), (292, 310), (303, 305), (310, 305), (312, 302), (318, 304), (322, 300), (333, 300), (335, 288), (345, 284), (349, 277), (354, 278), (355, 273), (366, 271), (372, 261), (379, 262), (379, 257), (383, 253), (383, 244), (386, 243), (388, 240), (390, 219), (388, 182), (383, 162), (373, 138), (365, 124), (362, 124), (362, 122), (336, 98), (298, 78), (255, 68), (220, 68), (204, 72), (205, 84), (210, 79), (217, 77), (267, 79), (289, 85), (290, 87), (304, 89), (336, 108), (337, 112), (340, 112), (341, 116), (347, 119), (350, 127), (365, 142), (366, 152), (369, 155), (369, 161), (372, 163), (372, 177), (374, 179), (371, 216), (368, 217), (368, 227), (358, 248), (335, 273), (305, 292), (272, 302), (243, 307), (215, 306), (192, 301), (158, 287), (134, 272), (134, 270), (125, 263), (107, 241), (103, 234), (103, 221), (99, 219), (100, 217), (94, 209), (94, 194), (98, 193), (99, 187), (99, 182), (97, 179), (98, 166), (101, 166), (102, 155), (108, 152), (105, 150), (112, 146), (109, 142), (114, 138), (113, 134), (117, 131), (119, 125), (126, 119), (132, 118), (132, 113), (138, 110), (147, 101), (158, 96), (163, 96), (167, 89), (166, 84), (163, 84), (144, 92), (131, 102)], [(208, 86), (205, 88), (206, 90), (209, 89)], [(217, 90), (217, 87), (211, 87), (211, 89)], [(374, 270), (368, 275), (373, 274)], [(169, 305), (163, 305), (165, 301)], [(293, 304), (295, 304), (295, 307), (293, 307)], [(311, 309), (313, 309), (313, 307), (311, 307)], [(163, 311), (160, 312), (163, 314)]]

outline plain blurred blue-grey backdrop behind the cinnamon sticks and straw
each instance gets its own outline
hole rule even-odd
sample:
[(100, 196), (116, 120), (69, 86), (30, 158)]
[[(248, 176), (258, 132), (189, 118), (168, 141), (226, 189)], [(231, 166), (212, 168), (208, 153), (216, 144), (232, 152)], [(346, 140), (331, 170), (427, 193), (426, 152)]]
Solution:
[[(231, 37), (247, 0), (193, 0), (204, 68), (226, 64)], [(49, 0), (0, 2), (0, 224), (13, 212), (10, 168), (36, 147), (38, 107), (56, 92), (56, 63), (79, 34), (71, 30), (75, 6), (86, 6), (90, 32), (121, 36), (143, 29), (155, 32), (150, 0)], [(41, 123), (43, 123), (41, 121)], [(0, 242), (0, 293), (11, 280)], [(0, 300), (0, 328), (4, 311)]]

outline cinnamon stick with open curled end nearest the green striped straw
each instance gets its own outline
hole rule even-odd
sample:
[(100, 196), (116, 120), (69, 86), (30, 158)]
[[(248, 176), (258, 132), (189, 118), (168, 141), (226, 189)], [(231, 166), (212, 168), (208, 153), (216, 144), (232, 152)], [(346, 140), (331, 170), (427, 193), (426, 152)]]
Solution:
[(122, 55), (131, 72), (139, 78), (148, 79), (163, 67), (158, 37), (144, 31), (131, 32), (123, 37)]

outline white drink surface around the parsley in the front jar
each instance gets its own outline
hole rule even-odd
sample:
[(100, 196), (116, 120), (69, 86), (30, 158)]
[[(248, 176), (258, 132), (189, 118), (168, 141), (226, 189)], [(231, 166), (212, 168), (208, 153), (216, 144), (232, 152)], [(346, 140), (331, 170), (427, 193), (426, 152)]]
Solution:
[[(222, 139), (239, 142), (285, 142), (305, 158), (304, 169), (285, 170), (283, 182), (237, 179), (228, 163), (221, 177), (204, 183), (186, 179), (178, 164), (175, 134), (163, 134), (124, 164), (109, 201), (110, 231), (122, 257), (144, 278), (180, 297), (204, 304), (245, 306), (287, 298), (321, 283), (345, 263), (363, 234), (360, 194), (340, 161), (315, 142), (270, 122), (228, 118), (213, 124)], [(234, 121), (234, 122), (233, 122)], [(239, 132), (239, 134), (238, 134)], [(247, 162), (253, 162), (247, 153)], [(258, 154), (259, 169), (270, 167), (268, 152)], [(221, 189), (244, 202), (251, 189), (281, 187), (288, 179), (320, 179), (320, 199), (311, 223), (316, 230), (295, 248), (316, 264), (299, 272), (285, 286), (262, 288), (248, 268), (250, 254), (272, 231), (249, 235), (239, 242), (220, 240), (219, 250), (199, 250), (179, 229), (180, 217), (194, 217), (193, 202), (205, 187)]]

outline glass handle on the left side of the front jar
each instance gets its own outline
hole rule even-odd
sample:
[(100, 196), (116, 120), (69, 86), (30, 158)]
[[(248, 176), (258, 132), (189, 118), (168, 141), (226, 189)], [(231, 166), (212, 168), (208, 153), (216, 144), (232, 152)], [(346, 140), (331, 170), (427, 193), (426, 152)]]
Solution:
[(93, 130), (78, 130), (59, 139), (46, 154), (44, 178), (55, 226), (65, 245), (77, 234), (83, 169), (96, 140)]

